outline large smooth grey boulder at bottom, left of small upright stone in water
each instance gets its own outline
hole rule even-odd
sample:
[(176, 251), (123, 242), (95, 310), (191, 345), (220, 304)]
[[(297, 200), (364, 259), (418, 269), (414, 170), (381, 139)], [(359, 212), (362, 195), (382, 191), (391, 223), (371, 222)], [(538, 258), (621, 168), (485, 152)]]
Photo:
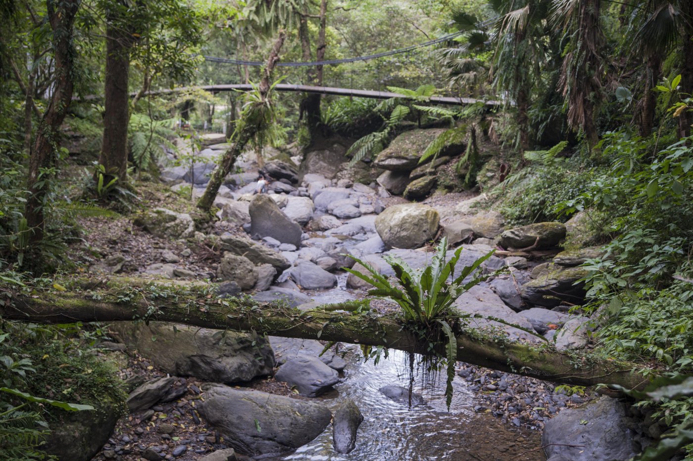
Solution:
[(218, 384), (204, 388), (200, 414), (223, 435), (225, 444), (244, 455), (281, 455), (313, 440), (330, 424), (322, 404), (238, 390)]

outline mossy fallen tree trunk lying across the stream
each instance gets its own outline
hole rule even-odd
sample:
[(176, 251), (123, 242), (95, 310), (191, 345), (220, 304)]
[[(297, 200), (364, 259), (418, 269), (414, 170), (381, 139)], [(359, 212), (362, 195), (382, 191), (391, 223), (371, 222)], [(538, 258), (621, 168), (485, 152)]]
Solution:
[[(81, 280), (71, 284), (81, 288), (34, 295), (0, 289), (0, 316), (37, 323), (157, 320), (430, 354), (428, 343), (417, 341), (394, 314), (300, 311), (281, 302), (223, 300), (211, 294), (209, 284), (164, 285), (141, 279)], [(457, 334), (457, 360), (572, 386), (608, 383), (642, 388), (649, 381), (631, 371), (632, 363), (559, 352), (549, 345), (504, 341), (500, 336), (473, 329)]]

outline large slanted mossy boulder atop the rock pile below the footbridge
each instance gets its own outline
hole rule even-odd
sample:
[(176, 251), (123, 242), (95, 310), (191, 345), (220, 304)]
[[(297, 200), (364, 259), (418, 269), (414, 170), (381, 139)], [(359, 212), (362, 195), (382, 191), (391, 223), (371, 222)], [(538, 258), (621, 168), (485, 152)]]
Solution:
[[(410, 172), (419, 165), (421, 154), (445, 129), (412, 129), (392, 140), (374, 161), (374, 165), (383, 170)], [(462, 152), (462, 145), (448, 145), (440, 156)]]

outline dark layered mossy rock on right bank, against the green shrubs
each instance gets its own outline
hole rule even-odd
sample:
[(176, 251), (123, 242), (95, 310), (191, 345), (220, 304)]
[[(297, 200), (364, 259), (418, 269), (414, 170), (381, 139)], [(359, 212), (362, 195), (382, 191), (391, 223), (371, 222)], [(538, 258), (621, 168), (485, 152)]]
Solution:
[[(578, 282), (588, 275), (582, 267), (563, 267), (550, 264), (539, 271), (536, 266), (532, 277), (520, 291), (523, 300), (530, 306), (556, 307), (561, 302), (580, 305), (585, 300), (585, 284)], [(536, 273), (535, 273), (536, 271)]]

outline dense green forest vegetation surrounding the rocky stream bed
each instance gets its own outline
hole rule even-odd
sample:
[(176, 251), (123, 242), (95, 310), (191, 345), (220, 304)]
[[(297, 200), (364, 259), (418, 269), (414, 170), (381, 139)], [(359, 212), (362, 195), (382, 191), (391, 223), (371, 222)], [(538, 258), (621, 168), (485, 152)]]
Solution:
[[(3, 286), (50, 283), (55, 271), (76, 269), (65, 257), (80, 239), (76, 217), (136, 209), (135, 179), (155, 177), (173, 136), (190, 136), (181, 122), (245, 136), (257, 150), (337, 134), (356, 141), (353, 163), (410, 125), (438, 126), (446, 131), (423, 156), (455, 139), (468, 146), (448, 189), (479, 188), (511, 224), (580, 213), (585, 240), (566, 245), (605, 245), (604, 257), (586, 263), (588, 304), (576, 307), (601, 313), (597, 354), (646, 373), (693, 374), (690, 1), (0, 0), (0, 21)], [(273, 75), (202, 57), (264, 61), (280, 30), (284, 62), (457, 35), (407, 55), (277, 67)], [(411, 99), (280, 95), (263, 92), (263, 77), (265, 84), (389, 88)], [(245, 82), (259, 87), (245, 96), (148, 93)], [(430, 103), (434, 95), (502, 104), (445, 109)], [(248, 127), (254, 131), (243, 134)], [(73, 181), (76, 163), (85, 170), (81, 183)], [(500, 169), (502, 181), (484, 174)], [(40, 373), (37, 351), (67, 361), (89, 334), (0, 323), (3, 386), (50, 398), (29, 379)], [(107, 372), (89, 357), (69, 361), (82, 359), (88, 363), (71, 366)], [(56, 400), (74, 400), (61, 394)], [(19, 450), (40, 440), (42, 426), (32, 424), (44, 422), (45, 408), (20, 411), (19, 403), (0, 394), (3, 449), (5, 441)], [(641, 405), (657, 405), (672, 427), (693, 424), (691, 397)], [(26, 432), (10, 434), (15, 426)]]

